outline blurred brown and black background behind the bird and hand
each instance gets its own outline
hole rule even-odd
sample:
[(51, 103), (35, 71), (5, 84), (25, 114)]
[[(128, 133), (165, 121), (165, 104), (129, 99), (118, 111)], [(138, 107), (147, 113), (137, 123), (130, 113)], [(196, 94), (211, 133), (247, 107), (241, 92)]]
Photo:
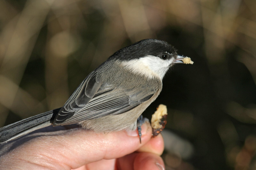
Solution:
[(255, 0), (1, 0), (0, 127), (61, 107), (116, 50), (145, 38), (177, 64), (144, 112), (168, 108), (166, 169), (256, 169)]

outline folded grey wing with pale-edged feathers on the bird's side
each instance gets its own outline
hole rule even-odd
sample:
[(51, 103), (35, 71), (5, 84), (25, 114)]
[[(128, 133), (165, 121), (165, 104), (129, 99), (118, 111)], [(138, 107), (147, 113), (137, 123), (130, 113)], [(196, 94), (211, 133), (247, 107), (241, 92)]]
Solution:
[[(87, 89), (92, 91), (87, 92)], [(147, 85), (127, 89), (99, 83), (93, 74), (89, 75), (62, 107), (55, 118), (57, 122), (55, 125), (73, 124), (110, 114), (122, 114), (149, 100), (156, 90), (158, 89), (151, 89)]]

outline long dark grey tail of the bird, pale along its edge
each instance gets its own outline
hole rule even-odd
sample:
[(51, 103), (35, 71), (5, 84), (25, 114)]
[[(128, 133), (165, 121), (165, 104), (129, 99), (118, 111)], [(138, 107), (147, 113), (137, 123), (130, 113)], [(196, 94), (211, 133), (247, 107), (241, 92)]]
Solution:
[(60, 108), (23, 119), (0, 128), (0, 143), (7, 142), (34, 130), (50, 126)]

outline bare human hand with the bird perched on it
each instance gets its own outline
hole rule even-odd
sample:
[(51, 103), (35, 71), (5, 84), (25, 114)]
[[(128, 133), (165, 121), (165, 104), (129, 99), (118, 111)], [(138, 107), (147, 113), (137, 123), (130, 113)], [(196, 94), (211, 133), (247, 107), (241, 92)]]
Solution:
[(162, 136), (151, 138), (148, 122), (141, 128), (141, 144), (137, 130), (95, 133), (75, 128), (34, 133), (0, 157), (0, 169), (164, 169)]

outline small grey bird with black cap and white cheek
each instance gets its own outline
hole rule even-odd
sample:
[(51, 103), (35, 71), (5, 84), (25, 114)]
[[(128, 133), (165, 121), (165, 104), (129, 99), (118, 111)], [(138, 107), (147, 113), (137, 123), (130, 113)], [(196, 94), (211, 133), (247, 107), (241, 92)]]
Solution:
[(162, 79), (184, 57), (165, 41), (145, 39), (122, 48), (93, 70), (63, 107), (0, 129), (0, 143), (46, 126), (80, 124), (95, 132), (135, 130), (156, 100)]

